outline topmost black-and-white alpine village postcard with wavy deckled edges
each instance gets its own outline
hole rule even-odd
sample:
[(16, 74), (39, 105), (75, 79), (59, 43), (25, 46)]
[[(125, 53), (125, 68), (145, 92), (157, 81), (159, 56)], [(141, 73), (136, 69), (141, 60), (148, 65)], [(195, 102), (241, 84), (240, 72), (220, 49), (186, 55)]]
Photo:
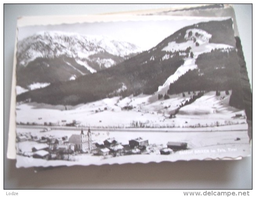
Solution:
[(82, 18), (18, 20), (16, 167), (250, 155), (232, 18)]

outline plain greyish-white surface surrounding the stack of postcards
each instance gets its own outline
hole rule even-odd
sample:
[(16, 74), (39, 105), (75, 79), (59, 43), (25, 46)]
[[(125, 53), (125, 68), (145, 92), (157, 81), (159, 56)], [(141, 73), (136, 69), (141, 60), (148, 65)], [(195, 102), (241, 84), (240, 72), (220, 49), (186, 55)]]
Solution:
[[(250, 189), (252, 157), (238, 161), (190, 161), (59, 167), (34, 173), (7, 160), (11, 76), (18, 16), (100, 14), (173, 5), (4, 5), (4, 188), (5, 189)], [(241, 44), (252, 84), (252, 5), (234, 5)]]

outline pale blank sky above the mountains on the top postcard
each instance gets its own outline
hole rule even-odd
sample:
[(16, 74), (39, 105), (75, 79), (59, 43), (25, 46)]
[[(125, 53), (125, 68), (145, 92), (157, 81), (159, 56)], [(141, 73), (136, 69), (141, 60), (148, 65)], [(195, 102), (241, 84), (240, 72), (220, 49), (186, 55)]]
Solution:
[(159, 20), (147, 16), (148, 20), (85, 22), (61, 25), (34, 25), (18, 28), (18, 40), (40, 31), (74, 32), (84, 35), (103, 35), (115, 40), (127, 41), (148, 50), (182, 27), (210, 20), (227, 18), (173, 17)]

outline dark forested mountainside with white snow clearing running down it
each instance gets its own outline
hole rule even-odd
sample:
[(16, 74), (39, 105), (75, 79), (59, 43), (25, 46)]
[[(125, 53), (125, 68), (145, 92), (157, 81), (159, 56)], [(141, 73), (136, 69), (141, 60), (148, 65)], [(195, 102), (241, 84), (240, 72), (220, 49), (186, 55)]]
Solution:
[(158, 100), (159, 94), (167, 98), (184, 91), (239, 92), (234, 90), (239, 84), (235, 46), (232, 20), (198, 23), (118, 66), (24, 93), (17, 100), (76, 105), (113, 96), (147, 94)]

